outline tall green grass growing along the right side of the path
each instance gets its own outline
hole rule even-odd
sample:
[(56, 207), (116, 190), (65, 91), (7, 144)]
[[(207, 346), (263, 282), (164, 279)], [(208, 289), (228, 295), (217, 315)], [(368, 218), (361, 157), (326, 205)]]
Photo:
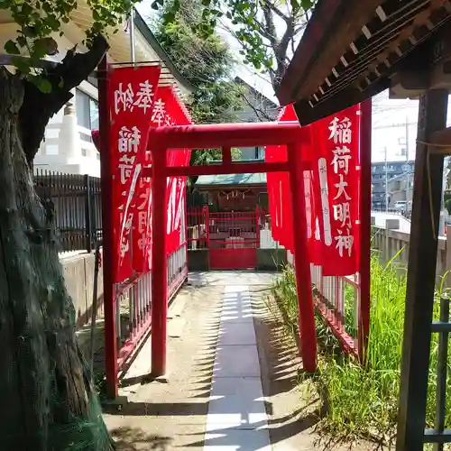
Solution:
[[(371, 264), (371, 324), (368, 351), (364, 364), (344, 355), (336, 337), (318, 315), (317, 336), (319, 371), (314, 383), (327, 406), (320, 427), (334, 437), (393, 437), (396, 433), (398, 394), (400, 389), (400, 355), (403, 335), (405, 272), (393, 261), (382, 266), (377, 257)], [(347, 289), (346, 289), (347, 290)], [(297, 299), (295, 278), (290, 267), (285, 268), (273, 293), (290, 331), (297, 331)], [(354, 335), (354, 289), (346, 292), (345, 318), (348, 333)], [(434, 317), (438, 318), (436, 299)], [(428, 381), (427, 427), (435, 418), (437, 340), (432, 336)], [(451, 361), (449, 361), (451, 364)], [(451, 392), (451, 378), (447, 379)], [(451, 397), (448, 397), (451, 398)], [(451, 427), (451, 400), (446, 406), (446, 427)]]

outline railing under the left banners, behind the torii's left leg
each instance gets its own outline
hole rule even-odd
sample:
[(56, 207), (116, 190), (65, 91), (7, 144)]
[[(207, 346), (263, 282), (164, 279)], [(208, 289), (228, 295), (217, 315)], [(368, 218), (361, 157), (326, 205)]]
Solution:
[[(168, 302), (188, 277), (187, 244), (168, 256)], [(152, 327), (152, 272), (146, 272), (116, 289), (117, 369), (121, 371)]]

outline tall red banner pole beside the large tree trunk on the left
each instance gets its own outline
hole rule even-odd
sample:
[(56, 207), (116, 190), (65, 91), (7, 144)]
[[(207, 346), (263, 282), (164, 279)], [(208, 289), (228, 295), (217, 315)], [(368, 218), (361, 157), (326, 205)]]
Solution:
[(117, 341), (115, 329), (115, 262), (113, 235), (113, 168), (110, 158), (109, 99), (106, 56), (98, 65), (100, 183), (102, 188), (102, 234), (105, 308), (106, 396), (117, 397)]

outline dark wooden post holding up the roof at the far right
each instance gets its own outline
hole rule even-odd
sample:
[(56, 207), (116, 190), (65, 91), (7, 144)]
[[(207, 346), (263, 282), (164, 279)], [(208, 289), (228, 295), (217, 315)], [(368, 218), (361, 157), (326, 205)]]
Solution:
[(419, 100), (397, 451), (423, 450), (444, 163), (443, 154), (425, 143), (446, 127), (447, 99), (447, 90), (440, 89)]

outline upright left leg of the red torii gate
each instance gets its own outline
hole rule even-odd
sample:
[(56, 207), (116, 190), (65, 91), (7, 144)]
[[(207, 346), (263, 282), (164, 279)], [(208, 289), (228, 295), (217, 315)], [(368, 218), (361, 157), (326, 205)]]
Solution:
[[(165, 151), (165, 150), (164, 150)], [(168, 260), (166, 257), (166, 152), (152, 150), (152, 375), (166, 373)]]

